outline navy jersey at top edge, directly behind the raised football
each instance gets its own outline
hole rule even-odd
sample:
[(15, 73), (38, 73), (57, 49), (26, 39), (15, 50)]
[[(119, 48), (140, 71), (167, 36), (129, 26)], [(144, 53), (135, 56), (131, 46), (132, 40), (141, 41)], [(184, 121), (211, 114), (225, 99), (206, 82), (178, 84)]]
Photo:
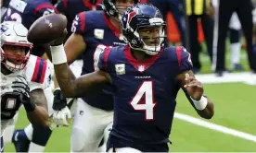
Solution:
[(60, 0), (58, 1), (58, 4), (56, 4), (56, 7), (58, 9), (59, 13), (62, 13), (65, 15), (68, 19), (67, 29), (68, 29), (68, 35), (67, 39), (71, 35), (71, 25), (72, 21), (75, 18), (77, 14), (83, 11), (90, 11), (90, 10), (100, 10), (102, 0), (96, 0), (96, 2), (93, 4), (89, 0)]

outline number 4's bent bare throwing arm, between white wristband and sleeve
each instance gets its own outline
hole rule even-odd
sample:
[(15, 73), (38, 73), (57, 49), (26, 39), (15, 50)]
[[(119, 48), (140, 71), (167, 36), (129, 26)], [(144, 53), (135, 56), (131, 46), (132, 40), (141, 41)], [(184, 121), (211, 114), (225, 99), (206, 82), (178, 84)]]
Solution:
[(62, 94), (67, 98), (79, 98), (96, 94), (110, 83), (110, 76), (105, 71), (96, 71), (76, 78), (70, 66), (65, 64), (54, 65), (58, 85)]

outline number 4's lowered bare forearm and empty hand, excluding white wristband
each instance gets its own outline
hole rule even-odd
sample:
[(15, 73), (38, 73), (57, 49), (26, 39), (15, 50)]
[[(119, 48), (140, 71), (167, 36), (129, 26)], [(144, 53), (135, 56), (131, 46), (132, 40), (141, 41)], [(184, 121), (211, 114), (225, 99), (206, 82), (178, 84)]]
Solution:
[(208, 103), (204, 110), (198, 110), (196, 109), (194, 102), (190, 99), (194, 100), (200, 100), (201, 96), (203, 96), (203, 87), (201, 82), (199, 82), (196, 77), (194, 76), (194, 73), (190, 71), (186, 71), (179, 76), (177, 76), (178, 81), (180, 82), (180, 86), (183, 88), (187, 100), (191, 103), (191, 105), (194, 107), (194, 109), (198, 112), (198, 115), (205, 119), (211, 119), (211, 117), (214, 114), (213, 109), (213, 103), (209, 98), (207, 98)]

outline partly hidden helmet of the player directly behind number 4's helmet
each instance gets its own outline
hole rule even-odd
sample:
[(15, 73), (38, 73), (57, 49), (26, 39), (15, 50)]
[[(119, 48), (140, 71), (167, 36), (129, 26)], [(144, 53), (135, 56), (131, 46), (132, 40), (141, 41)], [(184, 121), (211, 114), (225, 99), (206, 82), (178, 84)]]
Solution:
[[(140, 0), (134, 0), (134, 4), (140, 3)], [(117, 6), (116, 0), (102, 0), (102, 9), (109, 15), (118, 20), (122, 20), (122, 13), (119, 9), (126, 9), (127, 6)]]

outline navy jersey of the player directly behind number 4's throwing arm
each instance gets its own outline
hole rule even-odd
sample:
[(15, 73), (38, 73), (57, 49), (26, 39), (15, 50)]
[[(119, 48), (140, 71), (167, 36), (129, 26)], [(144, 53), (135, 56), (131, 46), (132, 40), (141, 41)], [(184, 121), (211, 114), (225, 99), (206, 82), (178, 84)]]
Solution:
[[(110, 23), (104, 11), (86, 11), (78, 14), (73, 21), (71, 31), (81, 34), (86, 43), (86, 50), (82, 54), (82, 75), (98, 69), (99, 54), (106, 46), (125, 45), (121, 31)], [(99, 95), (86, 97), (83, 100), (96, 108), (113, 110), (112, 91), (109, 86)]]

